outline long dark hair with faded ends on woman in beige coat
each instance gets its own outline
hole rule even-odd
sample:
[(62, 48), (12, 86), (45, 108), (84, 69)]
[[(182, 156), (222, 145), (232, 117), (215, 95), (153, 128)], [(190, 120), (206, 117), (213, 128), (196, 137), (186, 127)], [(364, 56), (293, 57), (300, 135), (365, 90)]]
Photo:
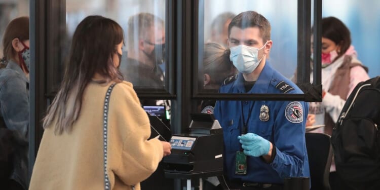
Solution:
[(61, 88), (49, 106), (44, 128), (56, 122), (55, 133), (70, 131), (81, 112), (82, 98), (95, 73), (110, 81), (123, 81), (112, 56), (124, 41), (121, 26), (102, 16), (88, 16), (75, 29)]

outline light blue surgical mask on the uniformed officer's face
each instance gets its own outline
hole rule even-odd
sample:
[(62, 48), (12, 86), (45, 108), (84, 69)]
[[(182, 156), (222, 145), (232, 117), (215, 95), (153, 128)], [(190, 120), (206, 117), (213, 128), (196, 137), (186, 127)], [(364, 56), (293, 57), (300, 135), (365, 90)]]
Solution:
[(231, 48), (230, 60), (234, 63), (236, 69), (242, 73), (251, 73), (253, 72), (261, 59), (258, 60), (258, 51), (267, 45), (268, 41), (261, 48), (253, 48), (250, 46), (239, 45)]

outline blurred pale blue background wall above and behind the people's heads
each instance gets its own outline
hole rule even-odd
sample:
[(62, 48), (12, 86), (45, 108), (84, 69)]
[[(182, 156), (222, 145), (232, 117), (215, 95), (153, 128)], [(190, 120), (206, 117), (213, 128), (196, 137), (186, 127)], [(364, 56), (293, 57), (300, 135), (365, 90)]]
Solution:
[[(294, 73), (297, 62), (297, 0), (205, 0), (205, 41), (209, 26), (220, 13), (254, 10), (272, 24), (274, 46), (270, 61), (286, 77)], [(369, 67), (370, 77), (380, 75), (380, 1), (378, 0), (324, 0), (322, 16), (334, 16), (350, 29), (352, 44), (359, 59)], [(71, 36), (79, 22), (90, 14), (99, 14), (118, 21), (124, 31), (131, 15), (150, 12), (165, 20), (164, 0), (67, 0), (66, 29)], [(0, 0), (0, 39), (13, 18), (29, 15), (29, 0)], [(0, 57), (3, 46), (0, 45)]]

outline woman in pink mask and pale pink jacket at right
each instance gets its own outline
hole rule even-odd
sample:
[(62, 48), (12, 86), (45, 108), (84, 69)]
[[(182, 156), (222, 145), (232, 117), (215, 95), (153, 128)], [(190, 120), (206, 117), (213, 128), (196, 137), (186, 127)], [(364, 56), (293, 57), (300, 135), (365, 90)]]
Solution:
[[(314, 132), (332, 134), (346, 99), (358, 83), (369, 79), (367, 71), (351, 45), (347, 26), (335, 17), (323, 18), (322, 102), (311, 102), (309, 113), (315, 115), (316, 125), (325, 127)], [(313, 82), (313, 73), (310, 80)]]

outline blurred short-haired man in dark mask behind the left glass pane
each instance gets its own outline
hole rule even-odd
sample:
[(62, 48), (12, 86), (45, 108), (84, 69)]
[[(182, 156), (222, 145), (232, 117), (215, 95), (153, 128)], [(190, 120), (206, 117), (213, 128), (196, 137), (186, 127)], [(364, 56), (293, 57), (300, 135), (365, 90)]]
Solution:
[(135, 87), (164, 88), (164, 72), (159, 65), (165, 58), (164, 21), (150, 13), (139, 13), (128, 20), (127, 59), (120, 71)]

